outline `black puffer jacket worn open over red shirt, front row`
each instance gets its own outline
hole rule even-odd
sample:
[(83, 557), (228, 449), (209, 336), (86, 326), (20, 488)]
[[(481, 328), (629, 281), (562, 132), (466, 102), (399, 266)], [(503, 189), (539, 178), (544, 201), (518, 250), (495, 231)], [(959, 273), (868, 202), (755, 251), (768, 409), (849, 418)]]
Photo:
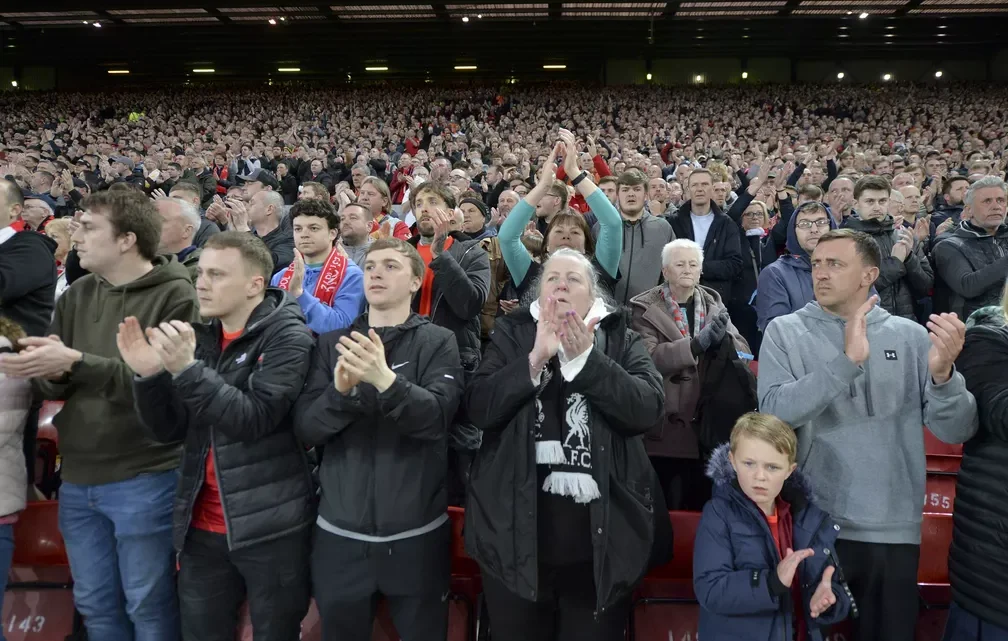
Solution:
[(196, 327), (195, 365), (134, 381), (141, 421), (158, 440), (184, 440), (172, 538), (185, 542), (203, 487), (207, 453), (228, 525), (240, 549), (308, 527), (314, 516), (311, 470), (289, 412), (308, 370), (311, 335), (297, 301), (269, 288), (245, 332), (221, 352), (221, 323)]

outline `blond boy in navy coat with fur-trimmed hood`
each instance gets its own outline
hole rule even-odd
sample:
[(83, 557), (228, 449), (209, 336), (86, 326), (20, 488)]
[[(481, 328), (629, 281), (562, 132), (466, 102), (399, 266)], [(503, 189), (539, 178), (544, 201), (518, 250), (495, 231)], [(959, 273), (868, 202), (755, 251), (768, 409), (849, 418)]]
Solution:
[(694, 548), (704, 641), (823, 641), (857, 614), (834, 552), (840, 526), (811, 502), (796, 454), (787, 423), (752, 412), (711, 456)]

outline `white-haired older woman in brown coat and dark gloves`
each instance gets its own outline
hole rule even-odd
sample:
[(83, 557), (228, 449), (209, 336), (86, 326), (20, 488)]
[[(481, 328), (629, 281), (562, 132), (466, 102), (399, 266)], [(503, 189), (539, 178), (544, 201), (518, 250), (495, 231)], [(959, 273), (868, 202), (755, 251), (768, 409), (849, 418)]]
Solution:
[(698, 367), (718, 351), (726, 335), (738, 351), (749, 352), (749, 346), (732, 326), (721, 295), (700, 284), (700, 245), (673, 240), (661, 260), (664, 282), (630, 300), (633, 328), (644, 339), (665, 389), (665, 411), (644, 444), (670, 509), (700, 510), (711, 497), (711, 484), (704, 475), (710, 453), (701, 452), (694, 425), (702, 391)]

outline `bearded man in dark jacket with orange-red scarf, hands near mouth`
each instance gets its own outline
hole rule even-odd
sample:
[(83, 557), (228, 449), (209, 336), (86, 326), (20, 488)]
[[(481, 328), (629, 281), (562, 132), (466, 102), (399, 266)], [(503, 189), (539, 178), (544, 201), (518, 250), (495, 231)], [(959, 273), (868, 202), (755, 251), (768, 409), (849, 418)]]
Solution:
[(410, 243), (429, 269), (413, 294), (413, 311), (454, 332), (463, 367), (475, 371), (480, 311), (490, 290), (490, 258), (480, 241), (450, 231), (456, 204), (446, 187), (424, 182), (416, 188), (413, 204), (419, 235)]

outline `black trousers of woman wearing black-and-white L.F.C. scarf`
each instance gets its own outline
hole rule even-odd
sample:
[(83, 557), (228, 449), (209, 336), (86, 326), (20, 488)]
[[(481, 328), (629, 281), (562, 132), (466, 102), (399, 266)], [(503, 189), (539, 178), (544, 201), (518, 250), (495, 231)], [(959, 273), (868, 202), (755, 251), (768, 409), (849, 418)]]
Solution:
[(630, 602), (596, 617), (592, 563), (540, 567), (538, 592), (527, 601), (484, 574), (494, 641), (623, 641)]

